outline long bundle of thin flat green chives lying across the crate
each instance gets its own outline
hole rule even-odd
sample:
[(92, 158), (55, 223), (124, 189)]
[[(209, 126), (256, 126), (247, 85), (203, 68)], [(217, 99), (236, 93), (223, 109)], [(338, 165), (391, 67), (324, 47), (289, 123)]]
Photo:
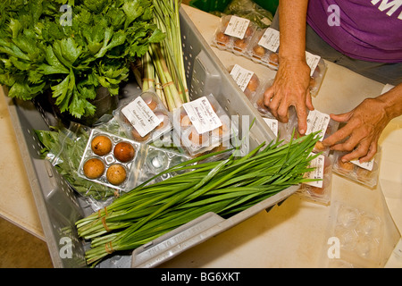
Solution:
[(211, 153), (161, 172), (157, 176), (187, 171), (154, 184), (146, 181), (76, 223), (79, 236), (91, 240), (88, 265), (114, 251), (138, 248), (202, 214), (229, 217), (292, 185), (314, 181), (304, 174), (312, 171), (315, 135), (262, 144), (243, 157), (233, 152), (227, 159), (205, 161), (226, 151)]

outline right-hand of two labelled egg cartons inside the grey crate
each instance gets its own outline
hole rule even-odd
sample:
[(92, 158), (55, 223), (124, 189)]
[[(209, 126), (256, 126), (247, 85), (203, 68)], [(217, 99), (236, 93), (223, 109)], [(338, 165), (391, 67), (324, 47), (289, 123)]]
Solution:
[(227, 145), (238, 134), (238, 127), (212, 94), (181, 105), (173, 113), (173, 130), (180, 146), (197, 156)]

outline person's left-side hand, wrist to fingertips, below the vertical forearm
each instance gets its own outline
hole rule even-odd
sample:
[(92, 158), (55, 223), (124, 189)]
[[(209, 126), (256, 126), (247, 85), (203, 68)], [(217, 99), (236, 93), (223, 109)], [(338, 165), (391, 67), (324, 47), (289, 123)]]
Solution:
[(289, 106), (295, 106), (302, 135), (307, 130), (307, 108), (314, 110), (309, 85), (310, 68), (305, 59), (280, 58), (275, 80), (264, 92), (264, 105), (281, 122), (288, 122)]

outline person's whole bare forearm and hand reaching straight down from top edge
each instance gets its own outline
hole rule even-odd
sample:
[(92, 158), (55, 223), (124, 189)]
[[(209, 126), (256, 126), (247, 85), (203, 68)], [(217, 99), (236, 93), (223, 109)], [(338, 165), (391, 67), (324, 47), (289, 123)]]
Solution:
[(289, 106), (296, 107), (300, 134), (306, 132), (307, 108), (314, 109), (309, 90), (310, 68), (306, 63), (307, 4), (308, 0), (280, 1), (279, 68), (272, 87), (264, 93), (264, 105), (281, 122), (288, 122)]

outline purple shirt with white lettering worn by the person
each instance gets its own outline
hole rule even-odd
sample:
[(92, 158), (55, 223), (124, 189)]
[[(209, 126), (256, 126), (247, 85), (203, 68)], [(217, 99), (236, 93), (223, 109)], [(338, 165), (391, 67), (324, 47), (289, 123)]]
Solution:
[(402, 63), (402, 0), (310, 0), (307, 22), (344, 55)]

